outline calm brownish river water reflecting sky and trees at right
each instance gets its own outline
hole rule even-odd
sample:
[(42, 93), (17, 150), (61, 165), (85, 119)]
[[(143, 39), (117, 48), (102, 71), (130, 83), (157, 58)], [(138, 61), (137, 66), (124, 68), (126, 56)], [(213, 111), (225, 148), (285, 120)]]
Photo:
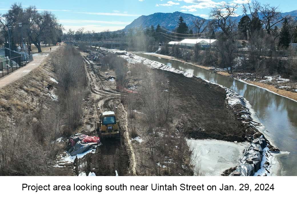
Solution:
[(277, 175), (297, 176), (297, 102), (191, 64), (152, 55), (137, 55), (221, 84), (244, 96), (259, 122), (265, 126), (266, 137), (281, 151), (290, 152), (289, 155), (278, 156), (280, 169)]

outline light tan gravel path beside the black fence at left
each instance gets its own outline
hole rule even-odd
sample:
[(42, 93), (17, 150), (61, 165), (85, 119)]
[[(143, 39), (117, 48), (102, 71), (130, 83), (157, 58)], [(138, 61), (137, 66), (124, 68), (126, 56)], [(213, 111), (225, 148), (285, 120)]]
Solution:
[(0, 78), (0, 89), (12, 82), (15, 82), (17, 79), (20, 79), (21, 77), (29, 74), (33, 69), (40, 66), (41, 63), (45, 60), (45, 58), (48, 57), (50, 53), (54, 52), (58, 47), (59, 46), (52, 47), (52, 51), (33, 54), (33, 61), (28, 63), (26, 66), (12, 72), (11, 74)]

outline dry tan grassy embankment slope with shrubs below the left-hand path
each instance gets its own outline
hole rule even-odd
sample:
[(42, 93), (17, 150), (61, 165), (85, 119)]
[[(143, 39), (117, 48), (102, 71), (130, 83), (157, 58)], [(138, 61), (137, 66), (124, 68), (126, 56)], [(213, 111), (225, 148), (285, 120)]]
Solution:
[[(69, 84), (70, 91), (64, 94), (69, 96), (65, 100), (68, 106), (65, 106), (65, 103), (51, 100), (47, 95), (48, 90), (42, 87), (41, 79), (42, 75), (45, 76), (45, 86), (48, 83), (53, 84), (48, 76), (58, 76), (56, 79), (62, 82), (58, 72), (59, 67), (65, 64), (56, 65), (56, 73), (53, 68), (53, 60), (59, 55), (65, 55), (64, 60), (67, 60), (69, 53), (79, 56), (73, 58), (73, 61), (81, 67), (80, 55), (71, 50), (64, 46), (59, 48), (51, 53), (41, 66), (0, 90), (0, 175), (54, 174), (52, 171), (55, 169), (50, 166), (53, 165), (56, 154), (64, 147), (55, 140), (63, 133), (63, 125), (68, 119), (65, 113), (71, 115), (69, 122), (72, 128), (73, 123), (79, 122), (79, 104), (82, 103), (80, 95), (84, 88), (78, 85), (84, 85), (85, 81), (79, 70), (77, 76), (81, 76), (80, 78), (72, 76), (75, 78), (72, 81), (76, 83)], [(76, 69), (74, 62), (68, 64), (69, 68), (72, 66)], [(54, 85), (53, 92), (61, 93), (62, 90), (64, 91), (63, 86)]]

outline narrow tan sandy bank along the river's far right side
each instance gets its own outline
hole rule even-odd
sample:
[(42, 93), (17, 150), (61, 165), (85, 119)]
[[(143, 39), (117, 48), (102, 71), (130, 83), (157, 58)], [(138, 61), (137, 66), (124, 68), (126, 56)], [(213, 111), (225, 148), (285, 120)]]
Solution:
[[(161, 55), (161, 54), (157, 54), (157, 53), (143, 53), (143, 54), (156, 56), (156, 57), (159, 57), (159, 58), (167, 58), (167, 59), (170, 59), (170, 60), (177, 60), (177, 61), (180, 61), (182, 63), (187, 63), (187, 64), (190, 64), (190, 65), (193, 65), (193, 66), (196, 66), (196, 67), (199, 67), (199, 68), (203, 68), (203, 69), (206, 69), (206, 70), (209, 70), (209, 71), (212, 71), (212, 70), (215, 69), (214, 67), (206, 67), (206, 66), (197, 65), (195, 63), (189, 63), (189, 62), (186, 62), (184, 60), (181, 60), (181, 59), (178, 59), (178, 58), (175, 58), (175, 57), (172, 57), (172, 56)], [(220, 74), (222, 76), (227, 76), (227, 77), (231, 77), (231, 78), (233, 76), (232, 74), (229, 74), (226, 71), (214, 71), (214, 72), (216, 72), (217, 74)], [(235, 79), (237, 79), (237, 78), (235, 78)], [(250, 80), (244, 80), (244, 79), (237, 79), (237, 80), (240, 80), (240, 81), (245, 82), (247, 84), (251, 84), (253, 86), (261, 87), (261, 88), (266, 89), (266, 90), (268, 90), (270, 92), (273, 92), (273, 93), (275, 93), (277, 95), (280, 95), (280, 96), (289, 98), (291, 100), (297, 101), (297, 92), (292, 92), (292, 91), (287, 91), (287, 90), (284, 90), (284, 89), (279, 89), (279, 88), (274, 87), (273, 85), (266, 84), (265, 82), (257, 82), (257, 81), (250, 81)], [(285, 87), (285, 86), (283, 86), (283, 87)]]

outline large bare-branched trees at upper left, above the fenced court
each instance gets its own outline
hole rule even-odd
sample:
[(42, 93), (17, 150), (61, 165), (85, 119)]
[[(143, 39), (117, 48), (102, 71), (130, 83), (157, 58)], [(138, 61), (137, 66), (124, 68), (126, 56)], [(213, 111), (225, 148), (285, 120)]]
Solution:
[(42, 52), (41, 42), (56, 44), (63, 35), (63, 26), (53, 13), (39, 12), (35, 6), (24, 8), (20, 3), (12, 4), (7, 13), (0, 14), (0, 44), (8, 43), (8, 30), (12, 45), (21, 46), (23, 37), (29, 46), (34, 44), (38, 52)]

